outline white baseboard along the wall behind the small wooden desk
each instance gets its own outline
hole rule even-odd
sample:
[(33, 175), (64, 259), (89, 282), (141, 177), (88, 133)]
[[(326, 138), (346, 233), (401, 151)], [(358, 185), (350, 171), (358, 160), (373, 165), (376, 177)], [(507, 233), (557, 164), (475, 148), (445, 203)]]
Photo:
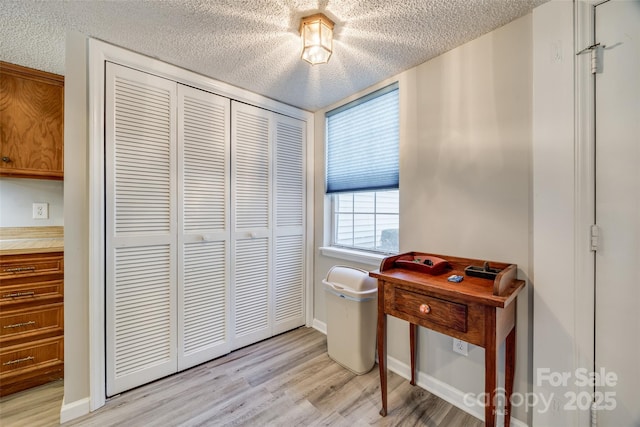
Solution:
[[(411, 369), (409, 365), (399, 361), (393, 357), (387, 356), (387, 367), (390, 371), (395, 372), (403, 378), (411, 378)], [(484, 407), (479, 405), (469, 406), (465, 403), (465, 393), (457, 388), (451, 387), (449, 384), (440, 381), (437, 378), (427, 375), (424, 372), (418, 372), (417, 385), (429, 393), (435, 394), (444, 401), (449, 402), (453, 406), (462, 409), (463, 411), (473, 415), (474, 417), (484, 421)], [(498, 426), (503, 425), (503, 420), (500, 418)], [(511, 425), (514, 427), (527, 427), (527, 424), (511, 417)]]

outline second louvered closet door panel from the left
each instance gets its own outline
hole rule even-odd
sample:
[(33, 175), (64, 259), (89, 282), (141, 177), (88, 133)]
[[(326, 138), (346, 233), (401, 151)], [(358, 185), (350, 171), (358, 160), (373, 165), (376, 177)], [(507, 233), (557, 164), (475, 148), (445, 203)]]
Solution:
[(230, 351), (230, 100), (178, 85), (178, 369)]

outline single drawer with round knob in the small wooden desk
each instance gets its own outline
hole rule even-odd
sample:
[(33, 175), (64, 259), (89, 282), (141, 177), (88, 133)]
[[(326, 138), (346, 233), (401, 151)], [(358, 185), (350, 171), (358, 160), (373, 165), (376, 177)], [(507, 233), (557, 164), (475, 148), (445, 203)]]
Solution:
[(467, 306), (396, 288), (392, 308), (420, 319), (423, 326), (439, 325), (467, 332)]

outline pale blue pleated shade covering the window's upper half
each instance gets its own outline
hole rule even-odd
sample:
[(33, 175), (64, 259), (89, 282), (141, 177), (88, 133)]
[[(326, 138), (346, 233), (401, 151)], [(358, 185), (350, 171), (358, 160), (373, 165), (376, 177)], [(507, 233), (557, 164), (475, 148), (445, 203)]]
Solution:
[(398, 188), (397, 83), (331, 110), (326, 118), (327, 193)]

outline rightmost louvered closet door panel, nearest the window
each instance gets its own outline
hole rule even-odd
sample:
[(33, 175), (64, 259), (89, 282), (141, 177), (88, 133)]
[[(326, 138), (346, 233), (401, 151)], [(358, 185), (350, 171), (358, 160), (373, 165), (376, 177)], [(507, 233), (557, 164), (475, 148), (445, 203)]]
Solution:
[(305, 323), (306, 123), (279, 114), (273, 117), (275, 335)]

